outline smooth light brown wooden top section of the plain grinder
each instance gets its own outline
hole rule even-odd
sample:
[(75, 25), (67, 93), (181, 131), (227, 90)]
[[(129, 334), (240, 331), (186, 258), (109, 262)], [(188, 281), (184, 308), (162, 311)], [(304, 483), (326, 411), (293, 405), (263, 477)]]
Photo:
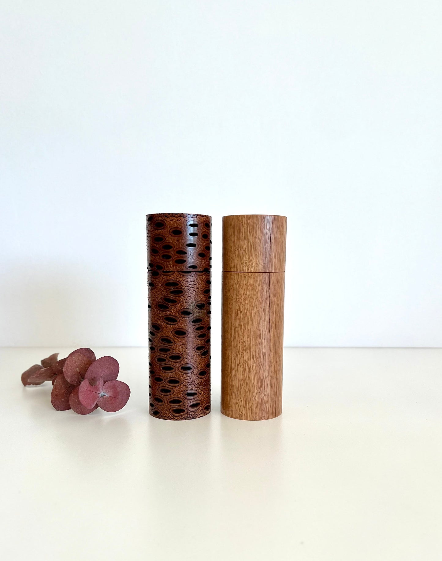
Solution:
[(222, 270), (284, 272), (286, 229), (285, 216), (236, 214), (222, 217)]

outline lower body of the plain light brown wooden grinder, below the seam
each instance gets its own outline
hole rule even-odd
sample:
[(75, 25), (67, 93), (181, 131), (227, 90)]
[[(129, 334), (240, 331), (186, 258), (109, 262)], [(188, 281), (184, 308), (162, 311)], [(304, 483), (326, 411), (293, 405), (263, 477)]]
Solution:
[(284, 280), (285, 273), (222, 273), (224, 415), (281, 415)]

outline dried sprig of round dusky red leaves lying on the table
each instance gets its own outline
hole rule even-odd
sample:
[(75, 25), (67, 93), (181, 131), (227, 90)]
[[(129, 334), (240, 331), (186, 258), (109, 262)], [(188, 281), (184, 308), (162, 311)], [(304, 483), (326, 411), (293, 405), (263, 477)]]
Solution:
[(96, 358), (90, 348), (79, 348), (58, 360), (58, 353), (43, 358), (21, 375), (22, 384), (40, 385), (52, 381), (50, 401), (57, 411), (72, 409), (88, 415), (100, 407), (114, 412), (127, 403), (131, 390), (117, 381), (120, 366), (111, 356)]

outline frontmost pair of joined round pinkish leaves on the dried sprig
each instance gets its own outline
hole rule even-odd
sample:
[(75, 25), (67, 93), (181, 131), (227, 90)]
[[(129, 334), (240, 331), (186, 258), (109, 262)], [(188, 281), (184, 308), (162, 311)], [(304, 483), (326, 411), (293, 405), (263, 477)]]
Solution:
[(131, 390), (129, 386), (119, 380), (109, 380), (103, 383), (100, 378), (95, 385), (90, 380), (83, 380), (78, 388), (78, 399), (87, 409), (97, 403), (104, 411), (115, 412), (127, 403)]

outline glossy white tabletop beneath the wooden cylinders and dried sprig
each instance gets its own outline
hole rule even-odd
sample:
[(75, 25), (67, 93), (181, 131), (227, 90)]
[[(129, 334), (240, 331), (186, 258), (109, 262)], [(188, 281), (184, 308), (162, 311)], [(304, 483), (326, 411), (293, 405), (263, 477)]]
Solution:
[(9, 560), (441, 561), (442, 350), (285, 349), (283, 413), (147, 412), (145, 348), (94, 349), (118, 413), (55, 411), (0, 351), (1, 544)]

